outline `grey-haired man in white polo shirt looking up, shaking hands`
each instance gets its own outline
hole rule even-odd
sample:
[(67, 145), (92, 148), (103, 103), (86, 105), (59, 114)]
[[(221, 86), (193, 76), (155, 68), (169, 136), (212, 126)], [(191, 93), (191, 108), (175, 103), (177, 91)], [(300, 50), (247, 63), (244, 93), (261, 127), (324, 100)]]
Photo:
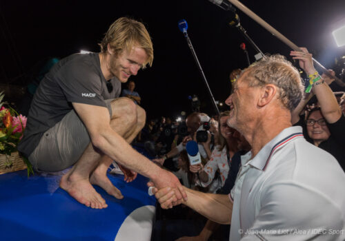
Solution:
[[(245, 136), (251, 155), (229, 196), (186, 189), (185, 203), (231, 223), (232, 241), (345, 239), (345, 174), (331, 154), (304, 139), (301, 127), (291, 127), (301, 98), (297, 70), (282, 56), (265, 56), (242, 73), (226, 100), (228, 125)], [(168, 208), (177, 204), (174, 193), (155, 195)]]

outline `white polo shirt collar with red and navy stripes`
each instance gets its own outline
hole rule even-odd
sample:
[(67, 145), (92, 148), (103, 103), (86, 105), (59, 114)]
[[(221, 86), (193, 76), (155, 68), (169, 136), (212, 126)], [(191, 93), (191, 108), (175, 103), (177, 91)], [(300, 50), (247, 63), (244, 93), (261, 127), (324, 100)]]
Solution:
[(282, 147), (290, 140), (293, 140), (298, 137), (303, 137), (302, 127), (295, 126), (295, 127), (288, 127), (280, 132), (275, 138), (270, 140), (260, 151), (259, 153), (250, 160), (246, 165), (251, 165), (259, 170), (264, 171), (270, 161), (271, 156), (273, 153)]

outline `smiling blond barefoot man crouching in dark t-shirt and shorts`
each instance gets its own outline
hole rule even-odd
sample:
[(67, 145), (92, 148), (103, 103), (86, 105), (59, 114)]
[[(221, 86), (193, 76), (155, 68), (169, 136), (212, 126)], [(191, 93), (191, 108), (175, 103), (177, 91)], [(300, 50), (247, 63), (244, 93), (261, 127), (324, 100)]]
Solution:
[[(112, 160), (160, 187), (179, 187), (183, 192), (173, 174), (130, 147), (146, 114), (129, 98), (116, 98), (120, 82), (152, 64), (148, 31), (143, 23), (123, 17), (110, 25), (100, 45), (101, 52), (72, 54), (46, 74), (34, 95), (19, 151), (37, 171), (72, 166), (60, 187), (95, 209), (108, 205), (92, 185), (123, 198), (106, 176)], [(132, 180), (136, 174), (128, 169), (126, 179)]]

